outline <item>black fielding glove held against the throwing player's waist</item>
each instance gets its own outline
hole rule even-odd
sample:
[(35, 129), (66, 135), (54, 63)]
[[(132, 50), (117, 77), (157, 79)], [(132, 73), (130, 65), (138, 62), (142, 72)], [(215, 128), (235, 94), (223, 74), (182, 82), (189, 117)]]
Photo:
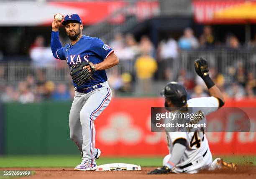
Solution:
[[(89, 65), (91, 67), (91, 72), (87, 70), (87, 68), (83, 69), (84, 66)], [(70, 75), (74, 80), (77, 86), (81, 86), (89, 80), (92, 80), (92, 75), (95, 73), (95, 66), (92, 62), (81, 62), (79, 64), (75, 64), (70, 68)]]

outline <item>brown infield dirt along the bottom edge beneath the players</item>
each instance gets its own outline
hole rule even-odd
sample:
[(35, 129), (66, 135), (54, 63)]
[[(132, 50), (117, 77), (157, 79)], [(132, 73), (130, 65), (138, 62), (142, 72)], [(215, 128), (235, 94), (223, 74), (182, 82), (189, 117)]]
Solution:
[[(200, 174), (162, 174), (147, 175), (156, 167), (142, 167), (141, 171), (74, 171), (73, 168), (0, 168), (0, 170), (33, 170), (36, 172), (29, 179), (247, 179), (256, 178), (256, 167), (238, 166), (236, 171), (202, 171)], [(28, 179), (28, 177), (21, 177)]]

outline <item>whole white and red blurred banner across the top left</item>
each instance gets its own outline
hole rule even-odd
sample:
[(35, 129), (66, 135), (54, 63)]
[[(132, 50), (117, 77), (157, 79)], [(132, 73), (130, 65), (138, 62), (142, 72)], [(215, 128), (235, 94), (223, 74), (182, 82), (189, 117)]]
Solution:
[(0, 25), (51, 25), (56, 13), (67, 15), (79, 14), (85, 25), (108, 20), (111, 23), (123, 23), (126, 16), (135, 16), (138, 20), (158, 15), (160, 5), (157, 0), (138, 1), (130, 5), (124, 0), (110, 1), (53, 1), (38, 3), (37, 1), (1, 2)]

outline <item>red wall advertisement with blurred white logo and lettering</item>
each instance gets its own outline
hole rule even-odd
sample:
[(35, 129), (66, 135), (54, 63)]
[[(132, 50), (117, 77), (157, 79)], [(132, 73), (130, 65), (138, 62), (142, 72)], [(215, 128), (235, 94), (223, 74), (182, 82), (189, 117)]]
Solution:
[[(113, 98), (105, 111), (95, 120), (96, 148), (102, 149), (107, 156), (164, 155), (168, 153), (165, 132), (151, 132), (151, 107), (163, 107), (163, 98)], [(225, 107), (243, 108), (253, 114), (256, 100), (228, 100)], [(251, 111), (250, 111), (251, 110)], [(227, 119), (239, 119), (230, 111)], [(213, 154), (256, 154), (256, 117), (250, 118), (248, 132), (206, 132), (210, 150)], [(207, 122), (216, 120), (207, 115)], [(233, 118), (232, 118), (233, 117)], [(218, 120), (218, 119), (217, 119)], [(238, 120), (239, 122), (239, 120)], [(217, 122), (209, 124), (213, 127)], [(220, 124), (221, 125), (221, 124)], [(239, 124), (238, 124), (239, 125)], [(218, 128), (218, 126), (217, 126)]]

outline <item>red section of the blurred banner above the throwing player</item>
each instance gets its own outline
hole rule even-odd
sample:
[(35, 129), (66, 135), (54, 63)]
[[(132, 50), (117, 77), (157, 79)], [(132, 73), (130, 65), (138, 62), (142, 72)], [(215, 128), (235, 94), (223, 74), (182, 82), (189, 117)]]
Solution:
[[(134, 15), (138, 20), (143, 20), (159, 13), (158, 1), (138, 1), (131, 6), (126, 1), (49, 2), (49, 5), (77, 10), (85, 25), (97, 24), (106, 18), (110, 23), (119, 24), (125, 22), (125, 15)], [(113, 13), (115, 15), (109, 17)]]

